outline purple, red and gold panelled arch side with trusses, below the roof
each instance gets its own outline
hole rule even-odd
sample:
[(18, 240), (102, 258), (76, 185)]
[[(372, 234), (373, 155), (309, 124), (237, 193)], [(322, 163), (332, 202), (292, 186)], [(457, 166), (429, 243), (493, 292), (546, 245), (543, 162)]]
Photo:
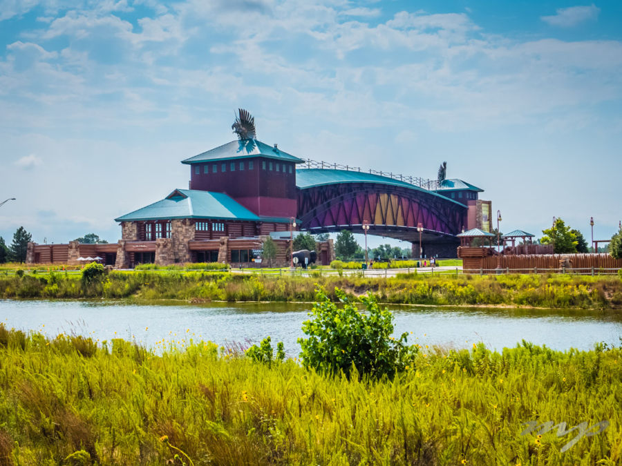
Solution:
[(299, 190), (298, 217), (302, 229), (360, 233), (369, 222), (370, 234), (418, 239), (421, 223), (429, 240), (449, 240), (460, 233), (466, 206), (431, 193), (380, 184), (335, 184)]

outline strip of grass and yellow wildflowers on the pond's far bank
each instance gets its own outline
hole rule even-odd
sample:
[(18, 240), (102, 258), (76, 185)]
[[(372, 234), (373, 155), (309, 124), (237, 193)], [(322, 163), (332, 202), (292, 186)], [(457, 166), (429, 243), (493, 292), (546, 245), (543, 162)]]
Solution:
[[(218, 272), (117, 272), (88, 286), (79, 274), (0, 275), (0, 298), (139, 298), (194, 301), (310, 302), (314, 284), (350, 296), (371, 291), (380, 302), (431, 305), (509, 305), (551, 308), (622, 307), (622, 280), (571, 275), (403, 274), (396, 278), (268, 278)], [(331, 294), (336, 299), (334, 293)]]

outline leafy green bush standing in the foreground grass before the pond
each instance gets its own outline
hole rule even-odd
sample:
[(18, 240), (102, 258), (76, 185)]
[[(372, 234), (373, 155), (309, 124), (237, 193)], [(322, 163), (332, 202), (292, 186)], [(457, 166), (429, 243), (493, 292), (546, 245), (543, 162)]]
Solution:
[(303, 366), (316, 371), (350, 374), (352, 367), (360, 375), (373, 378), (392, 377), (409, 364), (417, 347), (408, 347), (407, 334), (397, 340), (393, 333), (393, 314), (380, 309), (373, 295), (362, 297), (367, 313), (340, 289), (334, 290), (343, 307), (330, 301), (323, 289), (316, 290), (311, 320), (303, 322), (303, 332), (309, 338), (299, 338)]

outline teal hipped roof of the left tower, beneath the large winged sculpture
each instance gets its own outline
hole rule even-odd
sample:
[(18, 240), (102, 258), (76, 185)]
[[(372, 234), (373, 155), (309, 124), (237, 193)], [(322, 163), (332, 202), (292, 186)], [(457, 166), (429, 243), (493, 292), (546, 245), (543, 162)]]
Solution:
[(200, 162), (243, 159), (248, 157), (267, 157), (268, 159), (277, 159), (283, 162), (294, 162), (294, 164), (305, 162), (303, 159), (283, 152), (279, 148), (264, 144), (257, 139), (239, 139), (238, 141), (227, 142), (227, 144), (200, 153), (189, 159), (182, 160), (182, 164), (198, 164)]

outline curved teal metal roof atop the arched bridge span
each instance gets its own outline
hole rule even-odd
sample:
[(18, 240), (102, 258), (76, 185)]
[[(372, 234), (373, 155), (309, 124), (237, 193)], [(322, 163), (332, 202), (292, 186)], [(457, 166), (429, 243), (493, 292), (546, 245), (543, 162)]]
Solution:
[(399, 179), (393, 179), (388, 176), (373, 175), (372, 173), (366, 173), (364, 171), (334, 170), (332, 168), (296, 169), (296, 186), (301, 189), (339, 183), (378, 183), (402, 186), (403, 188), (421, 191), (423, 193), (428, 193), (429, 195), (440, 196), (444, 201), (455, 202), (455, 204), (464, 207), (464, 204), (451, 200), (449, 197), (441, 196), (434, 191), (428, 191), (427, 189), (420, 188), (414, 184), (403, 182)]

